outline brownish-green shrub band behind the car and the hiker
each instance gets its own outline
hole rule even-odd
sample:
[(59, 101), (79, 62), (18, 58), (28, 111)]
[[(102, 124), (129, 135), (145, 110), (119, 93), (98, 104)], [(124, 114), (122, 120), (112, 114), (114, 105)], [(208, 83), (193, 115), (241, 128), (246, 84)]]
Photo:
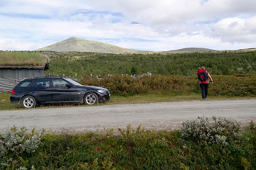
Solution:
[[(256, 75), (212, 75), (214, 83), (210, 84), (210, 95), (255, 96)], [(100, 80), (98, 79), (100, 78)], [(83, 85), (105, 87), (111, 93), (133, 95), (143, 93), (201, 93), (197, 86), (197, 76), (152, 75), (139, 78), (115, 74), (104, 77), (83, 77), (79, 82)]]

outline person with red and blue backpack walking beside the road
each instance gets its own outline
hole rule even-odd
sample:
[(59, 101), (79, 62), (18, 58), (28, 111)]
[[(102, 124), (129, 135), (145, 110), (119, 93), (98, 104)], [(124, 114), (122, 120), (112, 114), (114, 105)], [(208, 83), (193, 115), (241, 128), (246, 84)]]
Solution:
[(205, 70), (205, 67), (201, 67), (201, 68), (198, 67), (197, 75), (198, 75), (199, 84), (202, 91), (202, 98), (203, 100), (205, 100), (205, 98), (207, 98), (207, 95), (208, 95), (208, 87), (209, 87), (208, 78), (210, 78), (211, 83), (214, 83), (214, 81), (212, 81), (212, 78), (210, 77), (209, 72)]

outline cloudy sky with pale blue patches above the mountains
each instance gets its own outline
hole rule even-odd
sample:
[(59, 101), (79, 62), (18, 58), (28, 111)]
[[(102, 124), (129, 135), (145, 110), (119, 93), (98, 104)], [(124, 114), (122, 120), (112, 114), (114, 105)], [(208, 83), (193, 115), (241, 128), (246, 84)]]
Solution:
[(256, 47), (256, 0), (0, 1), (0, 50), (78, 37), (148, 51)]

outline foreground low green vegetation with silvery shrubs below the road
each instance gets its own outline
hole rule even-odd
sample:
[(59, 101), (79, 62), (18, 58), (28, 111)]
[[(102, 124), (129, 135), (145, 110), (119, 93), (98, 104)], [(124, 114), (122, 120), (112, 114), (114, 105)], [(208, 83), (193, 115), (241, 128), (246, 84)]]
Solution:
[(181, 130), (0, 134), (0, 169), (255, 169), (253, 122), (198, 117)]

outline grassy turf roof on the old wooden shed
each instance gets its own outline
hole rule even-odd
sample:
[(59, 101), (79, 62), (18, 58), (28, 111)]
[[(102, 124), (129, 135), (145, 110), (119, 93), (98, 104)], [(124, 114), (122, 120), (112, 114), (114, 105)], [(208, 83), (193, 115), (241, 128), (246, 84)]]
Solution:
[(33, 52), (4, 52), (0, 51), (0, 65), (2, 66), (37, 66), (45, 65), (48, 57)]

